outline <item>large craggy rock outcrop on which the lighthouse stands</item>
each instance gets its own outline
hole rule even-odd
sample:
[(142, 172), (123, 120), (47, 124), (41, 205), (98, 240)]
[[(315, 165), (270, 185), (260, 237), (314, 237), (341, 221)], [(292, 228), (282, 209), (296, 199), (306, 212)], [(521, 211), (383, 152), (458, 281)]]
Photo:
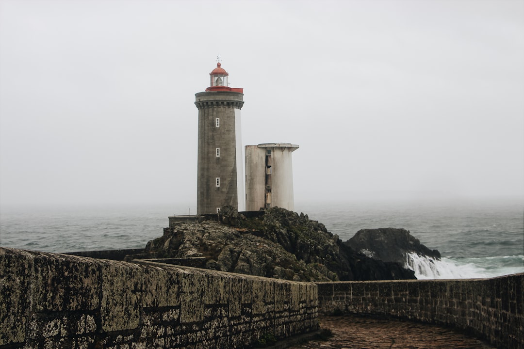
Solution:
[(151, 258), (205, 257), (209, 269), (288, 280), (415, 278), (398, 263), (355, 253), (302, 213), (275, 207), (250, 218), (221, 216), (222, 223), (179, 222), (166, 228), (163, 237), (147, 244), (146, 252)]

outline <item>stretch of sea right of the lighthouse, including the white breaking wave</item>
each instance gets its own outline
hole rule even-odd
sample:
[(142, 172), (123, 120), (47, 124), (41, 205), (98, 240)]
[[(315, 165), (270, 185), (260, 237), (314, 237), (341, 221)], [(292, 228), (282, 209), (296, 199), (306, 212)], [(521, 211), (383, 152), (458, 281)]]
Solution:
[(419, 279), (485, 278), (524, 272), (524, 205), (518, 200), (366, 202), (301, 208), (346, 241), (360, 229), (405, 228), (441, 260), (409, 255)]

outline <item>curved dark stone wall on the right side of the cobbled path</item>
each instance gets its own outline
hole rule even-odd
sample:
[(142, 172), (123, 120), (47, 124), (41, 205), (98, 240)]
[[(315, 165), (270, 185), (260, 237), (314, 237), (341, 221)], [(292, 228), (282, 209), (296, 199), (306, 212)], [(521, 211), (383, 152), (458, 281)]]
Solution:
[(500, 348), (524, 348), (524, 274), (317, 285), (319, 313), (392, 316), (450, 325)]

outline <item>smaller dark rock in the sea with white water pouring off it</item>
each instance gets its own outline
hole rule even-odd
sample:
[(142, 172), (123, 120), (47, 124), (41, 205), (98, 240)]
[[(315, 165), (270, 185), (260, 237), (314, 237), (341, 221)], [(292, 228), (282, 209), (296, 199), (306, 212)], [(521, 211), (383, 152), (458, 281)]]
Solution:
[(428, 249), (406, 229), (362, 229), (345, 244), (368, 257), (384, 262), (405, 263), (407, 253), (440, 259), (439, 251)]

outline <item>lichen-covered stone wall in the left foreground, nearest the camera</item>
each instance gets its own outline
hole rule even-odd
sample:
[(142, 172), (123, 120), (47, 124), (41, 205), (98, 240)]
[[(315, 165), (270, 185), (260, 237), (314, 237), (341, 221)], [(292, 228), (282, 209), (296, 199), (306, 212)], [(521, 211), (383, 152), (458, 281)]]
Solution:
[(318, 327), (316, 286), (0, 248), (0, 348), (239, 348)]

